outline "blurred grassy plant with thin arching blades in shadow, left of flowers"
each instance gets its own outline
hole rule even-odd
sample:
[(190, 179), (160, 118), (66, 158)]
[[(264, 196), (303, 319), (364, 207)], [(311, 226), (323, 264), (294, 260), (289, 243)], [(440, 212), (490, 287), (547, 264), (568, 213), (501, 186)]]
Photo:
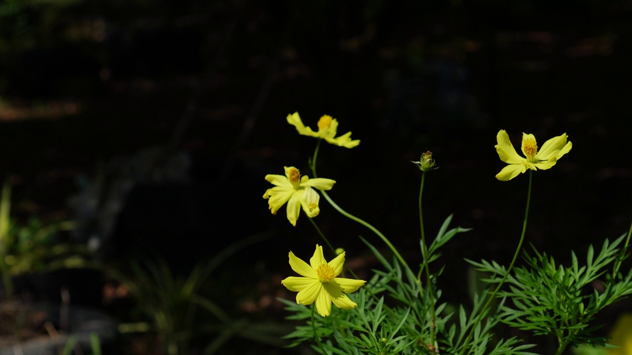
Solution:
[[(277, 336), (286, 327), (235, 319), (200, 291), (209, 276), (236, 251), (271, 236), (257, 234), (237, 241), (208, 262), (198, 263), (186, 277), (174, 275), (159, 257), (131, 262), (131, 277), (120, 270), (108, 270), (137, 300), (136, 310), (146, 320), (123, 323), (119, 332), (149, 332), (155, 349), (169, 355), (189, 354), (196, 341), (204, 343), (203, 354), (216, 354), (233, 337), (281, 345)], [(209, 337), (209, 334), (214, 336)]]

